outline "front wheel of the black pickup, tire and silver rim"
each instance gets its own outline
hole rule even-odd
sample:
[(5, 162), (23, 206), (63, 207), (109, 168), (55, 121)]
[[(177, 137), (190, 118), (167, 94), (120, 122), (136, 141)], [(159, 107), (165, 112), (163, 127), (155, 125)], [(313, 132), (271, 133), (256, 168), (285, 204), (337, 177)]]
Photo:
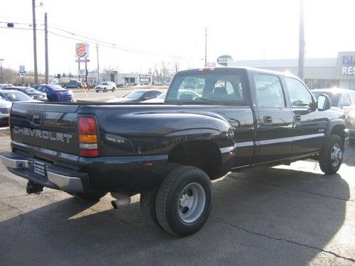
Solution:
[(342, 165), (344, 144), (339, 135), (330, 135), (320, 153), (320, 169), (324, 174), (335, 174)]

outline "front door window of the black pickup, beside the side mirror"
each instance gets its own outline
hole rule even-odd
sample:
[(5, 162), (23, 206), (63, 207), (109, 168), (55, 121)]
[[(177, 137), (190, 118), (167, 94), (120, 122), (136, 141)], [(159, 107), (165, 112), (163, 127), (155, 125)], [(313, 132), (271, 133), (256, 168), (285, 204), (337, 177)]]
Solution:
[(291, 77), (285, 77), (285, 82), (290, 94), (291, 107), (310, 107), (313, 103), (312, 95), (305, 85)]

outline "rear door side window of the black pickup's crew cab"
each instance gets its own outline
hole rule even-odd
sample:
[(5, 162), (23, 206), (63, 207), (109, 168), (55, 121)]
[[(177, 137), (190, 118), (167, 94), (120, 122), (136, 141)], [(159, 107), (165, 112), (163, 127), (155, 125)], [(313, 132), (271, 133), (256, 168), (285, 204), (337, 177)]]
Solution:
[(285, 107), (280, 79), (270, 74), (255, 74), (256, 102), (262, 107)]

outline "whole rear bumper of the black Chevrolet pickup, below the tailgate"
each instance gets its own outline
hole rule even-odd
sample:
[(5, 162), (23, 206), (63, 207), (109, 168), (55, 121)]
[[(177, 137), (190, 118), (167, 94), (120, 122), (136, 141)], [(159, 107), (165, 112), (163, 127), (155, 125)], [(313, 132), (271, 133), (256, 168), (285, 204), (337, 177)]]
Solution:
[[(31, 180), (43, 187), (59, 189), (66, 192), (84, 192), (89, 189), (89, 176), (84, 172), (70, 170), (65, 167), (55, 167), (47, 162), (33, 160), (11, 152), (0, 153), (4, 166), (13, 174)], [(36, 174), (33, 162), (45, 165), (46, 176)]]

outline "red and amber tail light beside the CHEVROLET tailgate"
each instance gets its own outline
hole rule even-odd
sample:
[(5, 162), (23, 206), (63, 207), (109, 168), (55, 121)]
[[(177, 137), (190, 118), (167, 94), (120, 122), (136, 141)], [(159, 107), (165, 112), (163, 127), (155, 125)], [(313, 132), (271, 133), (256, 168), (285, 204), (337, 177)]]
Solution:
[(99, 156), (97, 140), (96, 119), (92, 116), (79, 117), (79, 154), (84, 157)]

